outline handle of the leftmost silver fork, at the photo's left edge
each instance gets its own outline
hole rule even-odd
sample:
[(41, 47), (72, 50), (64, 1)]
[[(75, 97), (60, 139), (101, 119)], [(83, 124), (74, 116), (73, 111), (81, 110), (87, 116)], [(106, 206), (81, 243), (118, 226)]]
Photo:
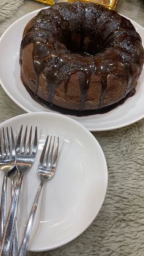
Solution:
[(0, 241), (2, 240), (2, 235), (5, 229), (6, 205), (7, 205), (7, 174), (4, 175), (3, 182), (2, 182), (2, 191), (1, 191)]

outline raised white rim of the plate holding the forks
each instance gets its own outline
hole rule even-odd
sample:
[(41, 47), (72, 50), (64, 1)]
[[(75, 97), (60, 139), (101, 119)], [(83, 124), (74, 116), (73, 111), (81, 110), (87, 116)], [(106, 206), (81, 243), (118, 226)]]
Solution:
[(51, 116), (55, 116), (56, 118), (57, 117), (62, 117), (62, 119), (67, 119), (69, 122), (71, 123), (75, 123), (75, 125), (79, 126), (82, 130), (85, 131), (85, 133), (93, 140), (93, 142), (95, 142), (96, 144), (96, 147), (98, 147), (98, 150), (99, 152), (101, 153), (101, 156), (103, 156), (103, 169), (104, 172), (105, 172), (105, 186), (104, 186), (104, 192), (103, 192), (103, 199), (101, 200), (101, 203), (99, 204), (99, 207), (97, 208), (96, 210), (96, 214), (95, 216), (93, 216), (93, 218), (88, 222), (87, 225), (85, 225), (84, 229), (81, 230), (79, 233), (77, 233), (76, 235), (74, 235), (73, 237), (70, 237), (69, 240), (67, 241), (63, 241), (63, 243), (59, 243), (57, 244), (56, 246), (51, 246), (51, 247), (42, 247), (40, 249), (37, 249), (37, 250), (33, 250), (33, 249), (29, 249), (29, 251), (32, 251), (32, 252), (43, 252), (43, 251), (49, 251), (51, 249), (56, 249), (57, 247), (60, 247), (60, 246), (63, 246), (67, 243), (70, 243), (70, 241), (73, 241), (74, 239), (76, 239), (79, 235), (81, 235), (91, 224), (92, 222), (95, 220), (95, 218), (98, 216), (98, 213), (99, 211), (101, 210), (101, 207), (104, 203), (104, 200), (106, 198), (106, 192), (107, 192), (107, 186), (108, 186), (108, 169), (107, 169), (107, 161), (106, 161), (106, 158), (105, 158), (105, 155), (104, 155), (104, 152), (103, 152), (103, 149), (101, 148), (101, 145), (99, 144), (99, 142), (97, 141), (97, 139), (93, 136), (92, 133), (90, 133), (90, 131), (87, 130), (87, 128), (85, 128), (83, 125), (81, 125), (81, 123), (77, 122), (76, 120), (73, 120), (71, 119), (70, 117), (67, 117), (65, 115), (62, 115), (62, 114), (59, 114), (59, 113), (49, 113), (49, 112), (31, 112), (31, 113), (26, 113), (26, 114), (21, 114), (21, 115), (16, 115), (15, 117), (12, 117), (10, 119), (7, 119), (5, 120), (4, 122), (0, 123), (0, 128), (2, 126), (9, 126), (11, 122), (13, 121), (16, 121), (18, 119), (23, 119), (23, 117), (31, 117), (31, 116), (35, 116), (37, 117), (37, 115), (51, 115)]

